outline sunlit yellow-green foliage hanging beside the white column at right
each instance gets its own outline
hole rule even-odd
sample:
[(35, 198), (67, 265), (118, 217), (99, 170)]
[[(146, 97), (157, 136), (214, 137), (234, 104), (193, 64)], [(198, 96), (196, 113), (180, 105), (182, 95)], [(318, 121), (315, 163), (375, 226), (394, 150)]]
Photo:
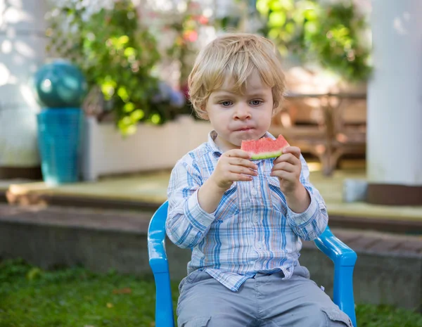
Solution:
[(257, 11), (267, 20), (262, 32), (282, 54), (291, 51), (347, 81), (369, 77), (370, 50), (362, 41), (366, 23), (352, 0), (257, 0)]

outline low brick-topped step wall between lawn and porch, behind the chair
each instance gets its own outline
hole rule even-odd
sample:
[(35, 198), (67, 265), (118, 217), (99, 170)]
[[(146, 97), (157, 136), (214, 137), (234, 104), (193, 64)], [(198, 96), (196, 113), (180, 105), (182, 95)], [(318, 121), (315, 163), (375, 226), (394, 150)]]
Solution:
[[(82, 264), (93, 271), (149, 274), (146, 232), (153, 212), (0, 204), (0, 258), (22, 257), (44, 269)], [(421, 310), (422, 237), (332, 228), (357, 252), (356, 302)], [(166, 243), (172, 279), (186, 275), (191, 251)], [(333, 264), (304, 242), (300, 263), (332, 295)]]

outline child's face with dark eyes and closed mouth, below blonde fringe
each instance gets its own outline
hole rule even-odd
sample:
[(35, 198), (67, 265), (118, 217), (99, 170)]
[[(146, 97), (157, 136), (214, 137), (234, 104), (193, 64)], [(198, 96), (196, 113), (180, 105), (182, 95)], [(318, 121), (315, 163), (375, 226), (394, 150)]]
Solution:
[(234, 94), (233, 82), (226, 80), (208, 98), (206, 111), (222, 151), (240, 148), (242, 140), (260, 139), (269, 129), (273, 113), (271, 88), (257, 71), (248, 78), (244, 94)]

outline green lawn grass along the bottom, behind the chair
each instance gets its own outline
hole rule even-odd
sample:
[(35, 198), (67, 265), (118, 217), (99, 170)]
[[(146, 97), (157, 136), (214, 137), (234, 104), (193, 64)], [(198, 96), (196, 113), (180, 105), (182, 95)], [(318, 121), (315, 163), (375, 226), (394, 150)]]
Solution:
[[(177, 283), (172, 288), (175, 305)], [(0, 263), (0, 327), (151, 327), (154, 306), (148, 276)], [(421, 314), (392, 307), (358, 305), (357, 319), (359, 327), (422, 327)]]

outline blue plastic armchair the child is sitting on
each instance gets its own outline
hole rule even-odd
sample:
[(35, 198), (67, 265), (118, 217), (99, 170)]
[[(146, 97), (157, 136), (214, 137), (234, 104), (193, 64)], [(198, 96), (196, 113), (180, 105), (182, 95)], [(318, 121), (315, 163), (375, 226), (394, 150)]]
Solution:
[[(148, 227), (149, 264), (155, 278), (155, 326), (174, 327), (172, 290), (167, 255), (165, 253), (165, 220), (167, 201), (153, 214)], [(315, 240), (316, 246), (334, 262), (333, 302), (357, 327), (353, 298), (353, 269), (357, 255), (331, 233), (329, 227)]]

